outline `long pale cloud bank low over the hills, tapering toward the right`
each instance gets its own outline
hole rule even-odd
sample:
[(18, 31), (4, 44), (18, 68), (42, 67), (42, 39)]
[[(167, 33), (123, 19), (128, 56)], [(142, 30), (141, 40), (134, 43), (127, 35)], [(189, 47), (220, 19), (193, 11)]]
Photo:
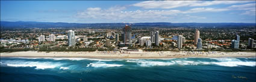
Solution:
[[(207, 17), (190, 16), (189, 13), (199, 13), (199, 12), (219, 12), (227, 11), (227, 8), (192, 8), (190, 10), (136, 10), (136, 11), (125, 11), (125, 7), (111, 7), (106, 10), (101, 10), (101, 8), (87, 8), (85, 11), (80, 11), (76, 14), (76, 18), (79, 19), (98, 19), (98, 20), (110, 20), (110, 21), (120, 21), (120, 20), (133, 20), (133, 21), (167, 21), (172, 19), (178, 19), (182, 17), (179, 15), (186, 15), (187, 19), (207, 19)], [(177, 17), (178, 16), (178, 17)], [(132, 21), (132, 22), (133, 22)]]

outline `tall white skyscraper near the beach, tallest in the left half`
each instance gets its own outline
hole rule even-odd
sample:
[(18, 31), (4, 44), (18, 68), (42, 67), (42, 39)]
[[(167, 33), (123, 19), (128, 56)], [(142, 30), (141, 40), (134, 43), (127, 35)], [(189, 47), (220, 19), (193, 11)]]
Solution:
[(69, 38), (69, 46), (75, 45), (75, 31), (67, 31), (67, 38)]

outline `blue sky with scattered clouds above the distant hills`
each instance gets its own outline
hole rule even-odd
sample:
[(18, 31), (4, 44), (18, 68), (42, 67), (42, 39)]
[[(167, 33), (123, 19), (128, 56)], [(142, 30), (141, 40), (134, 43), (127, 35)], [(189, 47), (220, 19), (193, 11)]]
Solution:
[(255, 1), (1, 1), (1, 21), (255, 23)]

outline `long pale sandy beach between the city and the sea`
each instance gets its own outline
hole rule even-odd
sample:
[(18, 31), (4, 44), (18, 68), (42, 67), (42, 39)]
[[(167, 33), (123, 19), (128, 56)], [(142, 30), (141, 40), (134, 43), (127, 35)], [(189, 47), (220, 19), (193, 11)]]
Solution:
[(79, 51), (79, 52), (39, 52), (39, 51), (19, 51), (12, 53), (1, 53), (1, 57), (87, 57), (87, 58), (134, 58), (134, 59), (151, 59), (151, 58), (173, 58), (173, 57), (255, 57), (255, 52), (189, 52), (189, 51), (128, 51), (107, 52), (107, 51)]

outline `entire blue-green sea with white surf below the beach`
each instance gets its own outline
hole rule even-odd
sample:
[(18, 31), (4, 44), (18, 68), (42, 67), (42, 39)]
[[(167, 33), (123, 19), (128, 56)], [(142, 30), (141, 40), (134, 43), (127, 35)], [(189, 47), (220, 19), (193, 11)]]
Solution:
[(256, 81), (255, 57), (89, 59), (1, 57), (0, 81)]

